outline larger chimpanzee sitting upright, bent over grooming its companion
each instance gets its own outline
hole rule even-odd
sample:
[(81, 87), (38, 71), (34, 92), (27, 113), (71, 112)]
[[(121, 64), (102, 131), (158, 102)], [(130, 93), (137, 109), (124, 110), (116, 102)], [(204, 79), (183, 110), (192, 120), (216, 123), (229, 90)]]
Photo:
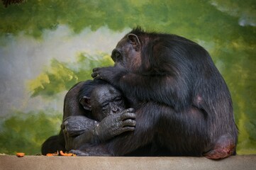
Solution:
[(235, 154), (238, 130), (226, 82), (203, 47), (177, 35), (133, 29), (111, 55), (114, 67), (96, 68), (132, 99), (136, 128), (106, 145), (124, 155), (152, 143), (169, 155), (221, 159)]

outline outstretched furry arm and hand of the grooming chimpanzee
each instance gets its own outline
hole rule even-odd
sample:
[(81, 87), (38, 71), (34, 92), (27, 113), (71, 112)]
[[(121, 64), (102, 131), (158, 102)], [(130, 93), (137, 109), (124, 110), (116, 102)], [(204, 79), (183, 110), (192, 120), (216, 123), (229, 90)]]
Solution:
[(156, 101), (174, 108), (178, 106), (184, 108), (189, 101), (191, 86), (188, 86), (186, 80), (182, 79), (184, 76), (178, 77), (178, 74), (157, 72), (135, 74), (118, 66), (95, 68), (93, 72), (92, 77), (104, 79), (121, 89), (125, 96), (133, 96), (133, 98), (135, 96), (138, 100)]

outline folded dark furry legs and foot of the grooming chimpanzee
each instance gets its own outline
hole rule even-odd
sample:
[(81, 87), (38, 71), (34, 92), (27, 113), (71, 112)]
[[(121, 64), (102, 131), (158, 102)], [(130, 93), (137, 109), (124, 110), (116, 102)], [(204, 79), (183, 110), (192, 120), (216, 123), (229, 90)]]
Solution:
[(161, 155), (166, 148), (165, 155), (202, 156), (213, 144), (207, 115), (194, 106), (177, 113), (169, 106), (150, 102), (135, 113), (135, 131), (113, 139), (108, 144), (111, 155), (128, 154), (151, 143), (152, 155)]

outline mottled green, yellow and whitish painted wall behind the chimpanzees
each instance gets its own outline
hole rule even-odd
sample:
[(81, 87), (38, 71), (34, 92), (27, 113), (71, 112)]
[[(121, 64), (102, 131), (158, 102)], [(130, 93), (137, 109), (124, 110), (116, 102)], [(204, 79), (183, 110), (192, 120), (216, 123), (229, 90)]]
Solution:
[(26, 0), (0, 4), (0, 153), (40, 153), (63, 99), (136, 26), (206, 48), (233, 98), (238, 154), (256, 154), (255, 0)]

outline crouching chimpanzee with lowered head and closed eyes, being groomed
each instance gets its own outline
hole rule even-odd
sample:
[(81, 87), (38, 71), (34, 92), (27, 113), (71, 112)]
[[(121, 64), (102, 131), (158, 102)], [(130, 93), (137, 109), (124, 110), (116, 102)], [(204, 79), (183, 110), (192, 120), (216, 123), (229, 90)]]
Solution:
[[(63, 123), (60, 134), (43, 143), (42, 153), (57, 150), (98, 146), (93, 154), (103, 154), (100, 143), (135, 128), (133, 108), (125, 109), (121, 93), (106, 81), (84, 81), (70, 89), (64, 102)], [(88, 152), (88, 149), (87, 149)]]

